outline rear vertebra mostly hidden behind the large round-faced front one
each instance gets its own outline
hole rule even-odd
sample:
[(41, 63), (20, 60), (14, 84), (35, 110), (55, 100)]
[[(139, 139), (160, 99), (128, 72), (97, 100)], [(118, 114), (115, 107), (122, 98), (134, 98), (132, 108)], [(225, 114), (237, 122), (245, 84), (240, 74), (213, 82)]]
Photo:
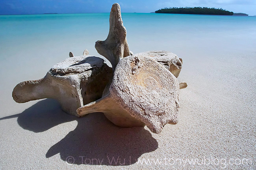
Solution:
[(134, 56), (149, 56), (161, 63), (165, 68), (178, 77), (182, 69), (182, 59), (169, 51), (147, 51), (134, 54)]

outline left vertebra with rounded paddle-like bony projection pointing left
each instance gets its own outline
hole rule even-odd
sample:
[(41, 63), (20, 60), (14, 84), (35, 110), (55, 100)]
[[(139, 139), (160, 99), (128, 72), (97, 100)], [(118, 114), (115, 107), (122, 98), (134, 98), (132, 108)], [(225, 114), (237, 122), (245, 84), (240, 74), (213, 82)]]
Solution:
[(40, 80), (24, 81), (13, 89), (17, 103), (54, 98), (72, 115), (76, 109), (100, 99), (111, 79), (112, 69), (95, 56), (75, 56), (54, 65)]

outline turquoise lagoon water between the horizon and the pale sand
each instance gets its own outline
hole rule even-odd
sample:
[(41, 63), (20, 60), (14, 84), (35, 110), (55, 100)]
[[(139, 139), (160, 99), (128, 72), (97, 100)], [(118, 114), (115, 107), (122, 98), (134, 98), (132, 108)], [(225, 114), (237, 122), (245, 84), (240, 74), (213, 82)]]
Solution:
[[(134, 52), (256, 46), (256, 17), (123, 13), (122, 19)], [(94, 43), (104, 40), (108, 29), (109, 13), (0, 16), (0, 50), (6, 54), (0, 60), (38, 53), (58, 58), (85, 48), (96, 55)]]

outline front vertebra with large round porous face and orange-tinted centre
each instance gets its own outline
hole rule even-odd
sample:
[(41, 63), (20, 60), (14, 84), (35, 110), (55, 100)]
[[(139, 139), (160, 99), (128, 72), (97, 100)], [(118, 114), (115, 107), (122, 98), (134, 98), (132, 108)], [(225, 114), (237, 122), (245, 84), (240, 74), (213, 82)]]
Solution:
[(160, 133), (165, 124), (178, 122), (179, 89), (175, 76), (156, 60), (128, 56), (119, 61), (109, 94), (77, 109), (77, 113), (103, 112), (117, 126), (145, 124)]

